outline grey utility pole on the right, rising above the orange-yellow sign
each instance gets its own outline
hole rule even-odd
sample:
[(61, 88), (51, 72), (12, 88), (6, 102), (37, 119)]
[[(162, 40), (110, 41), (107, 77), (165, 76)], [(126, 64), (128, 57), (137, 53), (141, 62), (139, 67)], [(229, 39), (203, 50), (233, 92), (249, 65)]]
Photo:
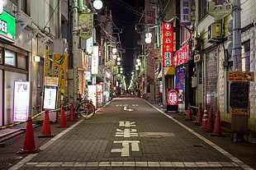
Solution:
[(234, 0), (232, 11), (233, 16), (233, 71), (242, 71), (242, 53), (241, 53), (241, 7), (240, 0)]

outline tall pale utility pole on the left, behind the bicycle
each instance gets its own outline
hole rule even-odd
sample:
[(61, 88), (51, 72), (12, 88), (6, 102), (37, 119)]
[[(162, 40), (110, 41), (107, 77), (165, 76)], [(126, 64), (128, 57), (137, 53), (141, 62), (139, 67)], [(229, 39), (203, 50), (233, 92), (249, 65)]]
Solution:
[(72, 8), (73, 104), (76, 105), (78, 103), (78, 0), (73, 0)]

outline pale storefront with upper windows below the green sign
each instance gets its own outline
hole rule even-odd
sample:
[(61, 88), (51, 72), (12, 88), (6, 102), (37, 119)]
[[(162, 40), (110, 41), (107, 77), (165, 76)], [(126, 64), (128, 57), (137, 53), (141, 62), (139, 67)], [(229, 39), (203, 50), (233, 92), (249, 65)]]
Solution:
[(15, 80), (28, 80), (28, 53), (0, 41), (0, 126), (13, 121)]

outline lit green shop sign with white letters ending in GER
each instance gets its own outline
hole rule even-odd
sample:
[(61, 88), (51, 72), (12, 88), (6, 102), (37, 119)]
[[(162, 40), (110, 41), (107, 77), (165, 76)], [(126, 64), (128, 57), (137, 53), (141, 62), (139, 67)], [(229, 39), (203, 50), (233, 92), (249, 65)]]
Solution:
[(15, 17), (6, 11), (0, 15), (0, 38), (15, 43)]

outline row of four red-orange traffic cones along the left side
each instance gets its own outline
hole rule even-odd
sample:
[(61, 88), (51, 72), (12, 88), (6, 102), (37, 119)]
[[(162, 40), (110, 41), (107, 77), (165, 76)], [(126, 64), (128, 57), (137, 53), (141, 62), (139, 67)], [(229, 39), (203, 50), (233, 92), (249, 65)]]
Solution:
[[(58, 127), (68, 127), (64, 112), (65, 112), (64, 106), (61, 106)], [(73, 103), (71, 103), (71, 107), (70, 107), (69, 121), (75, 121)], [(45, 109), (45, 119), (43, 123), (43, 130), (41, 135), (38, 137), (39, 138), (54, 137), (54, 135), (50, 131), (50, 118), (49, 118), (48, 109)], [(28, 117), (28, 122), (26, 122), (26, 135), (25, 135), (23, 149), (20, 149), (19, 151), (17, 151), (17, 154), (35, 154), (39, 152), (40, 152), (40, 149), (36, 149), (32, 118)]]

